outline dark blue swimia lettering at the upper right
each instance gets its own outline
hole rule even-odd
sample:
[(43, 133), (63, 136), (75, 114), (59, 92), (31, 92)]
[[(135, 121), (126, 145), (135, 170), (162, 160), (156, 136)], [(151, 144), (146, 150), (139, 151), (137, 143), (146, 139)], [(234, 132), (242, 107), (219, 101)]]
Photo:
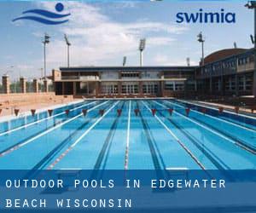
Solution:
[(199, 9), (197, 13), (177, 13), (177, 23), (236, 23), (235, 13), (225, 13), (224, 9), (220, 12), (204, 12), (203, 9)]

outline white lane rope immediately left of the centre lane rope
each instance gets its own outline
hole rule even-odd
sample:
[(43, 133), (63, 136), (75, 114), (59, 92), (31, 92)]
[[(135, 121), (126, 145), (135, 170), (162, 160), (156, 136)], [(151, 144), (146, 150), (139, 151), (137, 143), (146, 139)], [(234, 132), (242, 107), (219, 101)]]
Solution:
[(67, 153), (69, 153), (69, 152), (73, 149), (73, 147), (75, 147), (75, 146), (84, 138), (84, 136), (86, 136), (86, 135), (90, 132), (90, 130), (92, 130), (92, 129), (96, 126), (96, 124), (98, 124), (99, 122), (101, 122), (102, 119), (108, 114), (108, 112), (110, 112), (110, 111), (113, 109), (113, 107), (115, 107), (118, 103), (119, 103), (119, 101), (115, 102), (115, 103), (113, 104), (113, 106), (110, 107), (110, 108), (108, 109), (108, 111), (105, 112), (105, 113), (102, 115), (101, 118), (98, 118), (98, 119), (96, 120), (96, 122), (95, 122), (94, 124), (92, 124), (92, 125), (90, 126), (90, 128), (84, 132), (83, 135), (80, 135), (79, 138), (78, 138), (76, 141), (74, 141), (73, 144), (72, 144), (70, 147), (68, 147), (67, 150), (66, 150), (64, 153), (61, 153), (61, 155), (60, 155), (58, 158), (56, 158), (55, 161), (54, 161), (52, 164), (49, 165), (49, 167), (47, 168), (47, 170), (52, 170), (52, 169), (55, 167), (55, 165), (58, 164), (58, 163), (61, 161), (61, 159), (64, 158), (64, 157), (67, 155)]

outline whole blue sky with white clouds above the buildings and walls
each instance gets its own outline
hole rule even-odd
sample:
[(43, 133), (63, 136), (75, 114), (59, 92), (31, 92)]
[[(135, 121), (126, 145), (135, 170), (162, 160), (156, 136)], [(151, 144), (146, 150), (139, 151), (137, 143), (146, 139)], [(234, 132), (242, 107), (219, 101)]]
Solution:
[[(66, 33), (71, 66), (139, 65), (139, 39), (145, 37), (144, 66), (184, 66), (186, 58), (197, 65), (201, 44), (197, 34), (205, 37), (205, 55), (218, 49), (252, 48), (253, 11), (244, 7), (247, 1), (66, 1), (62, 14), (70, 13), (69, 21), (46, 26), (32, 20), (12, 20), (27, 9), (55, 12), (58, 2), (0, 1), (0, 75), (9, 72), (14, 80), (20, 76), (38, 78), (44, 67), (44, 32), (50, 36), (46, 47), (47, 73), (67, 66)], [(178, 12), (236, 13), (236, 23), (176, 23)]]

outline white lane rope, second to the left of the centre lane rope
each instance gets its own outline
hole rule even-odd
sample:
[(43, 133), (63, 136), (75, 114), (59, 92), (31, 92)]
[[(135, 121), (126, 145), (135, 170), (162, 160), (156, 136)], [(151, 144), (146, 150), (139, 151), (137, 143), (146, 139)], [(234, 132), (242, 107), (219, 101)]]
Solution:
[[(106, 103), (108, 103), (108, 101), (105, 101), (105, 102), (103, 102), (102, 104), (99, 104), (99, 105), (96, 105), (95, 107), (90, 108), (90, 109), (88, 110), (88, 112), (90, 112), (90, 111), (96, 109), (97, 107), (101, 107), (102, 105), (104, 105), (104, 104), (106, 104)], [(67, 121), (65, 121), (65, 122), (63, 122), (63, 123), (61, 123), (61, 124), (55, 125), (55, 127), (52, 127), (52, 128), (50, 128), (49, 130), (46, 130), (46, 131), (44, 131), (44, 132), (42, 132), (42, 133), (40, 133), (40, 134), (38, 134), (38, 135), (32, 137), (31, 139), (29, 139), (29, 140), (27, 140), (27, 141), (25, 141), (25, 142), (23, 142), (23, 143), (20, 143), (19, 145), (15, 146), (15, 147), (11, 147), (9, 150), (6, 150), (5, 152), (0, 153), (0, 157), (3, 157), (4, 155), (15, 151), (15, 150), (17, 150), (17, 149), (20, 148), (20, 147), (24, 147), (26, 144), (31, 143), (32, 141), (35, 141), (36, 139), (38, 139), (38, 138), (40, 138), (40, 137), (42, 137), (42, 136), (48, 134), (49, 132), (51, 132), (51, 131), (53, 131), (53, 130), (55, 130), (55, 129), (61, 127), (61, 126), (63, 126), (64, 124), (67, 124), (67, 123), (69, 123), (69, 122), (71, 122), (71, 121), (73, 121), (73, 120), (75, 120), (76, 118), (79, 118), (79, 117), (81, 117), (81, 116), (83, 116), (83, 113), (80, 113), (79, 115), (77, 115), (77, 116), (75, 116), (75, 117), (73, 117), (73, 118), (70, 118), (70, 119), (68, 119)]]

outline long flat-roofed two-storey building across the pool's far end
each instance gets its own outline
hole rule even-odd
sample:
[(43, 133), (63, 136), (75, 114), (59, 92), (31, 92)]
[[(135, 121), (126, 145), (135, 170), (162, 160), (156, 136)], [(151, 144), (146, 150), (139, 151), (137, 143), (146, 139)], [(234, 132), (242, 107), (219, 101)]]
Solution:
[(183, 96), (195, 91), (196, 66), (84, 66), (54, 71), (56, 95)]

